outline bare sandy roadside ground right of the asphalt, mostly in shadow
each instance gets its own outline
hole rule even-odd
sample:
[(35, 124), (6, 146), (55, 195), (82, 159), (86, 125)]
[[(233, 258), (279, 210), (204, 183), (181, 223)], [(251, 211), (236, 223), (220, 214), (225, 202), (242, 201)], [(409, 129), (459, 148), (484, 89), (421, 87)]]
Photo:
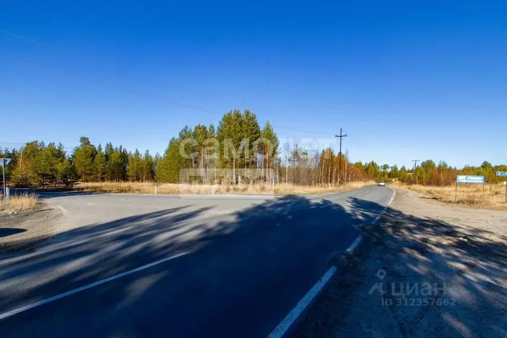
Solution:
[(294, 336), (507, 337), (507, 213), (396, 192)]

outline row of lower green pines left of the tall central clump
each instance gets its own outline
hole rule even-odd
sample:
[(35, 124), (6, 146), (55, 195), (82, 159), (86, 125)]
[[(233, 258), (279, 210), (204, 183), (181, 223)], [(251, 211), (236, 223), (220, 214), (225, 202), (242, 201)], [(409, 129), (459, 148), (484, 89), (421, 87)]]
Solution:
[(11, 158), (6, 167), (7, 180), (18, 187), (73, 185), (83, 181), (151, 181), (159, 155), (149, 151), (141, 155), (136, 149), (127, 152), (121, 145), (104, 148), (91, 144), (88, 137), (80, 138), (80, 145), (67, 156), (61, 143), (27, 142), (19, 149), (0, 149), (0, 157)]

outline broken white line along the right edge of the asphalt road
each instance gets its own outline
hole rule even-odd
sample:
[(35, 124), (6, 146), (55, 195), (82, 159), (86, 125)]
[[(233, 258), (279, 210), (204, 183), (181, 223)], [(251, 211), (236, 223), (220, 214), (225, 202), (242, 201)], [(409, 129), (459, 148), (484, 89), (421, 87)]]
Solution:
[[(375, 187), (373, 189), (375, 189)], [(382, 214), (387, 210), (387, 208), (389, 207), (389, 205), (394, 200), (394, 195), (396, 195), (396, 191), (394, 189), (391, 189), (391, 188), (388, 188), (388, 189), (392, 190), (391, 199), (389, 200), (389, 203), (387, 203), (387, 205), (384, 207), (384, 209), (380, 212), (380, 214), (373, 220), (372, 224), (375, 224), (376, 222), (378, 222), (378, 220), (380, 219), (380, 217), (382, 216)], [(371, 190), (369, 190), (369, 191), (371, 191)], [(358, 195), (356, 195), (356, 196), (358, 196)], [(327, 207), (327, 206), (328, 205), (325, 205), (323, 207)], [(347, 248), (347, 252), (354, 251), (354, 249), (357, 247), (357, 245), (361, 242), (362, 239), (363, 239), (363, 235), (359, 235), (350, 244), (350, 246)], [(308, 293), (305, 294), (305, 296), (303, 297), (303, 299), (301, 299), (301, 301), (299, 301), (299, 303), (296, 305), (296, 307), (294, 309), (292, 309), (292, 311), (289, 312), (288, 315), (285, 316), (285, 318), (283, 318), (283, 320), (281, 321), (281, 323), (278, 324), (278, 326), (273, 330), (273, 332), (271, 332), (268, 335), (268, 338), (282, 338), (283, 335), (285, 334), (285, 332), (287, 332), (287, 330), (294, 324), (294, 322), (296, 322), (296, 320), (301, 315), (301, 313), (303, 312), (303, 310), (305, 310), (305, 308), (308, 307), (308, 305), (311, 303), (311, 301), (313, 300), (313, 298), (315, 298), (320, 293), (320, 291), (325, 286), (325, 284), (327, 284), (328, 281), (331, 279), (331, 277), (333, 277), (333, 275), (335, 274), (335, 272), (336, 272), (336, 268), (335, 267), (331, 267), (319, 279), (319, 281), (317, 283), (315, 283), (315, 285), (310, 289), (310, 291), (308, 291)]]

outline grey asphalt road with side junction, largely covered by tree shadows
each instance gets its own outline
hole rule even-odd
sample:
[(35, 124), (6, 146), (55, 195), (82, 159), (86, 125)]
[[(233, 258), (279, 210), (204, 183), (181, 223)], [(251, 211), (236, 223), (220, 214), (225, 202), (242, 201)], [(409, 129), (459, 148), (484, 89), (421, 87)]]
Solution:
[(39, 250), (0, 261), (0, 318), (180, 256), (0, 319), (0, 336), (266, 337), (392, 194), (48, 194), (61, 224)]

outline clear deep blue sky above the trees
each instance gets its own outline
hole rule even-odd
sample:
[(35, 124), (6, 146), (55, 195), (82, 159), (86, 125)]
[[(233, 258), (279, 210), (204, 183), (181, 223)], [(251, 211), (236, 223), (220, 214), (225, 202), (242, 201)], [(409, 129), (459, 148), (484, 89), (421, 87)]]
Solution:
[(413, 3), (2, 2), (0, 29), (51, 47), (0, 33), (0, 145), (88, 136), (163, 153), (184, 125), (249, 108), (342, 127), (352, 161), (507, 163), (507, 5)]

